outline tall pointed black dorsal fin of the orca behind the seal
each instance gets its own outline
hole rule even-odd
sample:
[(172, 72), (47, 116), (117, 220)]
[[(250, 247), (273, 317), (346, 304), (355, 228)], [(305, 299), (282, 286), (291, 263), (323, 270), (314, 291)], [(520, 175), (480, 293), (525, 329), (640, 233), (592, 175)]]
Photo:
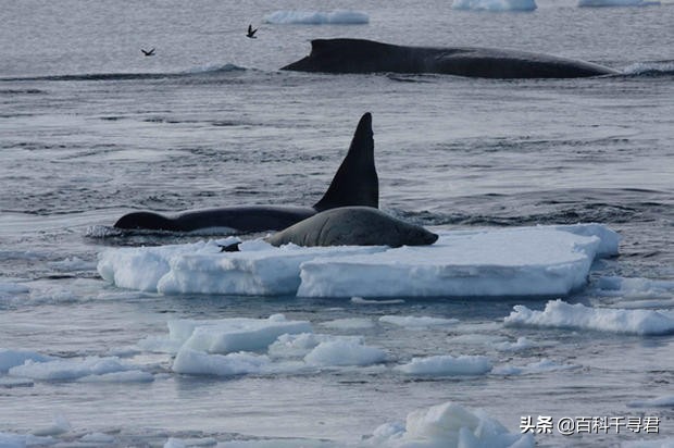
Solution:
[(358, 123), (349, 152), (337, 170), (330, 186), (313, 208), (317, 211), (337, 207), (379, 207), (379, 179), (374, 165), (372, 114)]

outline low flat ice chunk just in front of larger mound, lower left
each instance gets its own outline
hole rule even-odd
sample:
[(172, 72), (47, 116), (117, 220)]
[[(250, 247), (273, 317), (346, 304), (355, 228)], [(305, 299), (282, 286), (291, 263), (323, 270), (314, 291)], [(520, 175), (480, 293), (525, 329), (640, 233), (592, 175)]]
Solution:
[(191, 375), (232, 376), (261, 373), (270, 363), (270, 358), (264, 354), (244, 351), (209, 354), (184, 347), (173, 362), (173, 371)]

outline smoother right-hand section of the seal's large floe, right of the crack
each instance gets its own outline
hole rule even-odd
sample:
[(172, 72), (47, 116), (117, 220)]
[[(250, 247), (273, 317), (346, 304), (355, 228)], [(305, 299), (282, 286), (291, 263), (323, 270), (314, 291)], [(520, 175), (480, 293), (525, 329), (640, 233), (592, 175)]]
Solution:
[(567, 295), (585, 285), (597, 250), (617, 241), (603, 226), (581, 224), (437, 233), (428, 247), (307, 261), (298, 296)]

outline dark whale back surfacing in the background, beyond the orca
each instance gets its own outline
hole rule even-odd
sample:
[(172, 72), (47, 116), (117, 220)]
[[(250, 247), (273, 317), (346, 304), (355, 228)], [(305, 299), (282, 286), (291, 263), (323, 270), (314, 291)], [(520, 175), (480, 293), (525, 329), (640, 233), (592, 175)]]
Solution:
[(619, 72), (584, 61), (489, 48), (403, 47), (363, 39), (316, 39), (282, 70), (325, 73), (439, 73), (483, 78), (575, 78)]

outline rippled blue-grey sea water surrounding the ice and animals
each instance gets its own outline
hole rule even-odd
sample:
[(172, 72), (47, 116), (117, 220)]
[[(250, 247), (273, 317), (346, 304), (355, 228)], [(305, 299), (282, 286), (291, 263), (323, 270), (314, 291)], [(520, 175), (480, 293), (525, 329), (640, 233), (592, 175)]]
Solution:
[[(313, 203), (370, 111), (383, 209), (448, 228), (606, 224), (621, 234), (621, 254), (595, 267), (589, 286), (565, 298), (573, 303), (616, 300), (595, 294), (602, 276), (674, 278), (674, 5), (540, 0), (528, 13), (486, 13), (454, 11), (445, 0), (342, 0), (291, 8), (354, 9), (370, 23), (263, 24), (265, 14), (290, 9), (283, 1), (0, 0), (0, 282), (30, 290), (0, 296), (0, 348), (107, 356), (165, 334), (168, 319), (284, 313), (320, 324), (401, 314), (455, 318), (476, 333), (542, 344), (533, 353), (495, 354), (500, 362), (547, 358), (581, 368), (434, 381), (376, 370), (219, 378), (174, 374), (158, 358), (149, 384), (0, 385), (0, 432), (29, 433), (58, 414), (73, 427), (65, 443), (100, 432), (118, 446), (161, 446), (172, 436), (350, 444), (414, 409), (453, 400), (511, 431), (522, 415), (662, 419), (658, 435), (540, 435), (540, 446), (672, 437), (674, 409), (627, 403), (674, 395), (674, 338), (499, 324), (514, 304), (541, 309), (549, 298), (359, 306), (161, 297), (98, 276), (97, 253), (107, 247), (202, 238), (91, 232), (125, 212)], [(245, 37), (249, 23), (260, 26), (258, 39)], [(513, 48), (624, 75), (494, 80), (278, 71), (321, 37)], [(155, 55), (142, 57), (141, 48), (157, 48)], [(672, 309), (671, 290), (657, 299)], [(394, 359), (489, 351), (455, 346), (451, 329), (375, 325), (358, 334)]]

